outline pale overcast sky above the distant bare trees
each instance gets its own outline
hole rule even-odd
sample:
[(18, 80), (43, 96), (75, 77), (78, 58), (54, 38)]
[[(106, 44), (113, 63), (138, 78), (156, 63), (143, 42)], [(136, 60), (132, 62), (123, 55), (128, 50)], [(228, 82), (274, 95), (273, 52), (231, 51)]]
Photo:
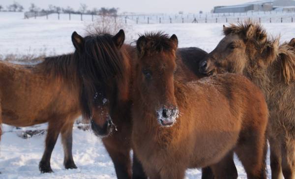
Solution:
[(200, 10), (209, 12), (216, 5), (236, 5), (253, 0), (0, 0), (0, 5), (6, 7), (13, 1), (22, 4), (26, 10), (30, 3), (35, 3), (41, 8), (47, 8), (49, 4), (79, 9), (80, 3), (86, 3), (89, 9), (93, 7), (118, 7), (119, 12), (143, 12), (143, 13), (197, 13)]

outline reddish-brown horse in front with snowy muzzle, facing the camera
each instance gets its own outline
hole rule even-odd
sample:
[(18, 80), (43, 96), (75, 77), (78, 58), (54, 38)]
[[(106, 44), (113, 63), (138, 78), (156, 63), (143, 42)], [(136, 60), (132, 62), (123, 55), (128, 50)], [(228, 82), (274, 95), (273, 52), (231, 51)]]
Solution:
[(188, 82), (177, 76), (177, 37), (137, 40), (132, 141), (150, 179), (182, 179), (187, 168), (210, 166), (228, 176), (236, 152), (248, 178), (265, 179), (267, 106), (263, 93), (241, 75)]

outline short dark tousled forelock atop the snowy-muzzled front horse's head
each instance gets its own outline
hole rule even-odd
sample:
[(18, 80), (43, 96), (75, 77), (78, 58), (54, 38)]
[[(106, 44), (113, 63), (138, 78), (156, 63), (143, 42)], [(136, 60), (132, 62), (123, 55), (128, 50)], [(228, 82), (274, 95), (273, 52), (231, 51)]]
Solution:
[[(150, 55), (155, 52), (171, 52), (175, 49), (175, 43), (170, 39), (169, 35), (163, 31), (146, 32), (145, 34), (140, 34), (139, 36), (139, 40), (143, 36), (146, 38), (147, 42), (142, 52), (146, 55)], [(138, 43), (138, 40), (134, 41), (134, 43)]]

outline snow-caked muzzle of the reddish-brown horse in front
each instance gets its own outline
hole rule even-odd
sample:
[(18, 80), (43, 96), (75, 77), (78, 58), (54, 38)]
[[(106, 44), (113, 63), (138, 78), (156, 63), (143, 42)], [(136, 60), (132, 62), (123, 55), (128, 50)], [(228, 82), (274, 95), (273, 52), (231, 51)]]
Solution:
[(178, 118), (178, 108), (176, 106), (164, 106), (160, 108), (157, 112), (158, 123), (162, 126), (170, 127)]

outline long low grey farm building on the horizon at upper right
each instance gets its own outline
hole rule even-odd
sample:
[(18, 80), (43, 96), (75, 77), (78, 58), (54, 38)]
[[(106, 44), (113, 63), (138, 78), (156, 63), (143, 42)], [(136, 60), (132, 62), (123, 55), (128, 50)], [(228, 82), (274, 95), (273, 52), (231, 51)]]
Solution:
[(216, 6), (214, 13), (247, 12), (247, 11), (271, 11), (275, 8), (287, 8), (295, 6), (295, 0), (259, 0), (238, 5)]

